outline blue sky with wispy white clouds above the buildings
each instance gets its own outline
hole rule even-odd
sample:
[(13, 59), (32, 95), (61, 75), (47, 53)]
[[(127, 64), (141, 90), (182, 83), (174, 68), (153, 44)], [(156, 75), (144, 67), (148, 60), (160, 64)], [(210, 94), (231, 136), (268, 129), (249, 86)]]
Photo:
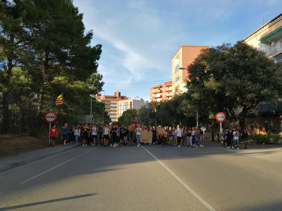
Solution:
[[(281, 0), (74, 0), (91, 45), (102, 44), (98, 72), (106, 95), (150, 99), (150, 87), (171, 79), (179, 45), (234, 44), (280, 14)], [(146, 83), (151, 81), (159, 81)], [(128, 84), (122, 84), (128, 83)], [(104, 94), (104, 92), (102, 92)]]

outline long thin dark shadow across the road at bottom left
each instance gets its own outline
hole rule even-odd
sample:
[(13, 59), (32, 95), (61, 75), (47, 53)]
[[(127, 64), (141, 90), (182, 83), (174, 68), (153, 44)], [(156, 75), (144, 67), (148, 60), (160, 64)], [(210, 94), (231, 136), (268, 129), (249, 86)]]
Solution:
[(19, 208), (24, 208), (24, 207), (29, 207), (29, 206), (36, 206), (36, 205), (41, 205), (41, 204), (47, 204), (47, 203), (65, 201), (65, 200), (84, 198), (84, 197), (89, 197), (89, 196), (94, 196), (94, 195), (96, 195), (96, 194), (83, 194), (83, 195), (65, 197), (65, 198), (60, 198), (60, 199), (52, 199), (52, 200), (47, 200), (47, 201), (40, 201), (40, 202), (34, 202), (34, 203), (28, 203), (28, 204), (21, 204), (21, 205), (16, 205), (16, 206), (2, 207), (2, 208), (0, 208), (0, 210), (19, 209)]

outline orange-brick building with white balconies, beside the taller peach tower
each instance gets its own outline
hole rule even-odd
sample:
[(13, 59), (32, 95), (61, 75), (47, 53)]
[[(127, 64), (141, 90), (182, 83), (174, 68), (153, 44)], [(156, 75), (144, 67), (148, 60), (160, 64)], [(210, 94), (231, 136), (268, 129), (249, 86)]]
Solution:
[(150, 102), (162, 102), (164, 99), (171, 99), (172, 81), (164, 82), (164, 85), (157, 85), (150, 88)]

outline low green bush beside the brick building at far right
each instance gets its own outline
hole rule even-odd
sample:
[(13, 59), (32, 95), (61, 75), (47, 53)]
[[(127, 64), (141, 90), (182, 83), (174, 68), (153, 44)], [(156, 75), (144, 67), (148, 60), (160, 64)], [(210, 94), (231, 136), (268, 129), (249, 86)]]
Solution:
[(267, 131), (267, 134), (251, 134), (250, 140), (254, 140), (256, 144), (276, 144), (282, 137), (279, 134), (273, 134), (271, 131)]

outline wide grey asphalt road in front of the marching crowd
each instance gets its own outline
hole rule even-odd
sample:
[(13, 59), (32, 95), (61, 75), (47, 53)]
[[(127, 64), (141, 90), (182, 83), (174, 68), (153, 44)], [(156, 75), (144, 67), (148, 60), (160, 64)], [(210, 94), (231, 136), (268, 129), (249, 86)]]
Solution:
[(87, 146), (0, 181), (0, 210), (282, 210), (282, 150)]

